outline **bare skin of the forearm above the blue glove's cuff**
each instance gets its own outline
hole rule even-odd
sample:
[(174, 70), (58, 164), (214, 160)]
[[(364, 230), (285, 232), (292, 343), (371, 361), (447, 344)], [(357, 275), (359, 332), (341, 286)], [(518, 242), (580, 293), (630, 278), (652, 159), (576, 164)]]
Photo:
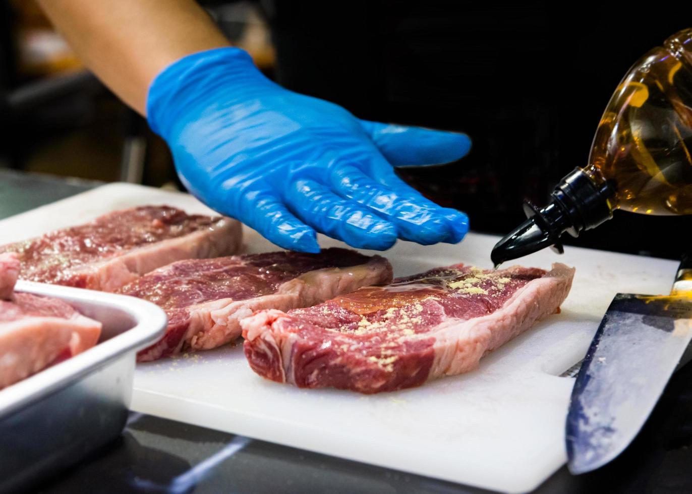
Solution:
[(39, 0), (84, 64), (145, 114), (156, 74), (185, 55), (228, 46), (194, 0)]

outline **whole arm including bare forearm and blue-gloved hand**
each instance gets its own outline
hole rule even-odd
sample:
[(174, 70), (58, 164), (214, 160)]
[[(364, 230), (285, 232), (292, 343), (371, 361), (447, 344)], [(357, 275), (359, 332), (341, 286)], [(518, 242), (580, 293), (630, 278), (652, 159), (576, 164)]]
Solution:
[(394, 166), (454, 161), (464, 134), (360, 120), (286, 91), (192, 0), (41, 0), (78, 54), (165, 138), (188, 190), (275, 244), (316, 252), (316, 231), (383, 250), (456, 243), (466, 215)]

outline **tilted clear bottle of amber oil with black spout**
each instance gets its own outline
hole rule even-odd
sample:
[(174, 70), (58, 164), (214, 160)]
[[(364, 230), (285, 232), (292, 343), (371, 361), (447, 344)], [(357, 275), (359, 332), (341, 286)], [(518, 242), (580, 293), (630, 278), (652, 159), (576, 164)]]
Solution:
[(495, 266), (577, 237), (616, 209), (692, 214), (692, 29), (630, 68), (606, 107), (588, 165), (567, 174), (544, 208), (493, 248)]

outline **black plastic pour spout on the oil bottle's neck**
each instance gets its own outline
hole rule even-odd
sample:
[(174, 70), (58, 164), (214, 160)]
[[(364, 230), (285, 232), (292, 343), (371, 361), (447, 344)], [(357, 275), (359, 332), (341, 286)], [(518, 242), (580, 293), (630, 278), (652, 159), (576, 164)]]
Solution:
[(597, 185), (584, 170), (576, 168), (556, 185), (545, 208), (524, 204), (527, 220), (502, 238), (490, 255), (495, 267), (546, 247), (563, 252), (560, 237), (564, 232), (578, 237), (583, 230), (596, 228), (612, 217), (608, 199), (614, 187)]

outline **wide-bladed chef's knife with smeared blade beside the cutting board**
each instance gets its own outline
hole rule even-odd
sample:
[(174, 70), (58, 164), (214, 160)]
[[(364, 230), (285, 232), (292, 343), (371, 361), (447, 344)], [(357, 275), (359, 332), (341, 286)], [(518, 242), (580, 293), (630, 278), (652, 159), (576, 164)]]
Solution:
[(599, 468), (628, 446), (691, 339), (691, 256), (683, 257), (671, 295), (615, 295), (572, 389), (570, 472)]

